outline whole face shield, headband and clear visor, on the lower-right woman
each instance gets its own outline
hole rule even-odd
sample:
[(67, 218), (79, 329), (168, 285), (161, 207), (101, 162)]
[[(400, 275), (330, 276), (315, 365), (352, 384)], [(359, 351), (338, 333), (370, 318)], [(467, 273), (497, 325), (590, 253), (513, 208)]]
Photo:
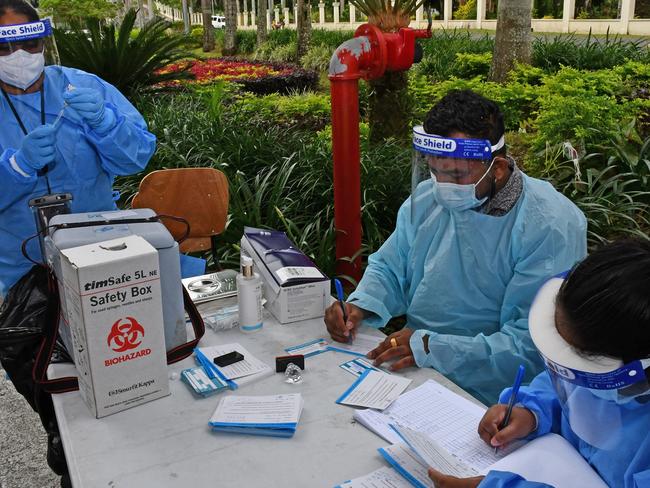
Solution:
[(529, 328), (571, 429), (602, 450), (623, 439), (626, 410), (648, 408), (650, 360), (624, 364), (617, 358), (576, 351), (555, 326), (555, 300), (563, 279), (549, 280), (530, 310)]

